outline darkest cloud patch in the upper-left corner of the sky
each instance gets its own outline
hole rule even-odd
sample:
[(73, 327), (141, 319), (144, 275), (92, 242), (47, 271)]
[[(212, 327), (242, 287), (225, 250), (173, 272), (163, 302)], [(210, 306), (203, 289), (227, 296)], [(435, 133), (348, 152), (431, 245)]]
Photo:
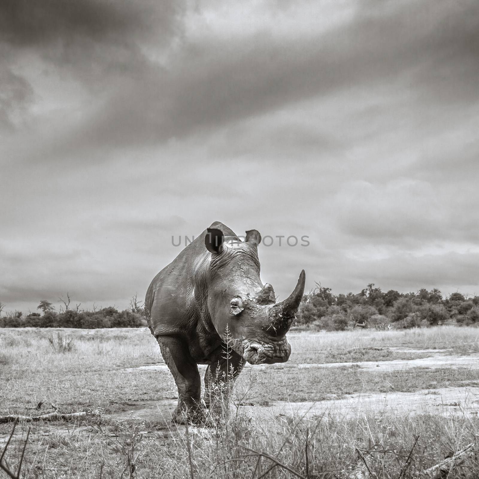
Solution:
[(168, 39), (177, 33), (180, 11), (181, 2), (168, 0), (4, 0), (0, 42), (31, 47), (46, 56), (63, 52), (61, 59), (68, 60), (68, 52), (79, 46), (97, 51), (132, 46), (152, 32), (156, 39)]

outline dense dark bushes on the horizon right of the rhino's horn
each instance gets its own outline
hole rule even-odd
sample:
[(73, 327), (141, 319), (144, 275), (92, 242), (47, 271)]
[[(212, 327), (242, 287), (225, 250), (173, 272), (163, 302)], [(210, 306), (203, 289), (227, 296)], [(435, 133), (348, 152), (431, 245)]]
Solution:
[(455, 322), (479, 324), (479, 296), (465, 297), (456, 292), (443, 297), (439, 289), (425, 288), (416, 293), (381, 291), (374, 283), (360, 293), (334, 295), (331, 288), (317, 284), (304, 295), (297, 312), (299, 326), (341, 331), (351, 327), (395, 329)]

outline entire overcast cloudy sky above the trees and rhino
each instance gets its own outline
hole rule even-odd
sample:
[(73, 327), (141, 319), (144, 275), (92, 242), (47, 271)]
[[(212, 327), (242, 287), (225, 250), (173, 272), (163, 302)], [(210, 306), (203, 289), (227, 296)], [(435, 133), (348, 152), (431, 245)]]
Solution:
[(215, 220), (309, 237), (280, 297), (479, 294), (477, 0), (3, 0), (0, 57), (7, 310), (125, 308)]

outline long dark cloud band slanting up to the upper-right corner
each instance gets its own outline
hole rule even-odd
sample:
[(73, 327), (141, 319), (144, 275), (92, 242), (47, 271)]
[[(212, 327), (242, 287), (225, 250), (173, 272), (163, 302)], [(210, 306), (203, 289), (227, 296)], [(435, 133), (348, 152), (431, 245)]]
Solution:
[[(275, 110), (331, 91), (414, 76), (419, 101), (467, 103), (479, 75), (479, 13), (474, 1), (365, 4), (352, 23), (284, 41), (185, 39), (169, 68), (151, 65), (122, 85), (85, 125), (95, 143), (161, 142)], [(454, 68), (444, 68), (452, 62)], [(436, 80), (436, 81), (432, 81)], [(457, 89), (460, 94), (457, 95)]]

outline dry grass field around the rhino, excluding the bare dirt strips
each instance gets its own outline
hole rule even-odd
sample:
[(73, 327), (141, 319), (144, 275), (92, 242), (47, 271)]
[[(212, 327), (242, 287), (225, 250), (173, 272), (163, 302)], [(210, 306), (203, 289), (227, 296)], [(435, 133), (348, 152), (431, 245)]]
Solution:
[[(371, 408), (358, 410), (354, 418), (301, 417), (274, 410), (263, 414), (261, 409), (251, 414), (251, 407), (238, 407), (234, 414), (228, 410), (216, 429), (194, 428), (185, 434), (184, 428), (160, 420), (158, 415), (136, 419), (134, 413), (118, 414), (134, 409), (130, 405), (138, 402), (176, 398), (167, 370), (142, 368), (162, 362), (158, 344), (148, 330), (62, 330), (60, 340), (57, 333), (39, 329), (0, 332), (0, 415), (40, 414), (52, 411), (50, 403), (62, 412), (92, 411), (76, 422), (30, 423), (25, 477), (119, 478), (122, 472), (129, 477), (133, 460), (137, 478), (191, 478), (192, 470), (194, 478), (251, 478), (258, 463), (256, 453), (261, 452), (305, 477), (333, 478), (345, 477), (357, 463), (356, 448), (376, 448), (389, 452), (368, 456), (370, 467), (379, 477), (397, 478), (417, 435), (411, 470), (439, 462), (478, 433), (477, 414), (470, 412), (448, 417), (434, 409), (425, 409), (423, 414), (408, 414), (404, 409), (384, 414)], [(246, 398), (250, 405), (274, 401), (318, 401), (320, 405), (324, 400), (354, 394), (433, 392), (452, 387), (466, 391), (479, 386), (475, 367), (451, 364), (374, 371), (350, 364), (408, 361), (431, 354), (425, 350), (441, 350), (453, 361), (458, 355), (474, 356), (479, 352), (478, 329), (293, 332), (288, 338), (293, 350), (288, 366), (344, 366), (251, 367), (240, 376), (233, 402)], [(35, 407), (40, 401), (44, 405), (38, 411)], [(18, 434), (7, 453), (12, 467), (27, 428), (26, 423), (17, 426)], [(10, 430), (11, 424), (0, 425), (0, 441)], [(256, 478), (272, 463), (263, 457), (259, 464), (262, 472), (257, 469)], [(467, 470), (476, 470), (476, 466), (469, 461)], [(265, 477), (294, 476), (276, 467)]]

